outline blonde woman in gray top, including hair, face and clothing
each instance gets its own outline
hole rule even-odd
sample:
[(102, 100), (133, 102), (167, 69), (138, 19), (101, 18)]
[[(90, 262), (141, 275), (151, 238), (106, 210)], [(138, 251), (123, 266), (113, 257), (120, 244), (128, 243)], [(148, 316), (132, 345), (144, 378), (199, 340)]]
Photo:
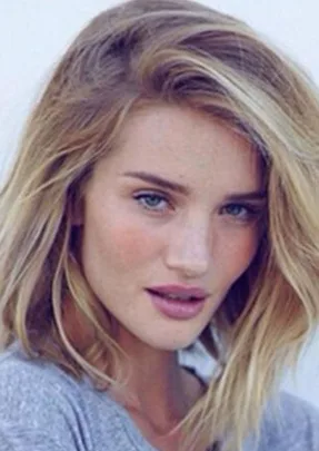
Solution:
[(318, 105), (195, 2), (89, 23), (1, 194), (1, 450), (319, 449), (273, 396), (319, 317)]

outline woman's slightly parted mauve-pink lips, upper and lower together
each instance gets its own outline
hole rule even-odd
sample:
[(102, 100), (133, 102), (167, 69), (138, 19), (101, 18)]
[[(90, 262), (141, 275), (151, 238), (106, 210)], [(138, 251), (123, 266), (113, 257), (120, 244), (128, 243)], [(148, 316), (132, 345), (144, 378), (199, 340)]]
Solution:
[(173, 320), (190, 320), (203, 308), (208, 294), (199, 288), (156, 287), (146, 288), (153, 306)]

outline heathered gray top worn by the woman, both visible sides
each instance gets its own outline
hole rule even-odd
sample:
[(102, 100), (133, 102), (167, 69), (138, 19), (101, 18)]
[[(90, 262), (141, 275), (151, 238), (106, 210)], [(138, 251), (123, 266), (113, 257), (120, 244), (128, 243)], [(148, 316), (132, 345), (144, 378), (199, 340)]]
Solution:
[[(319, 451), (319, 413), (280, 394), (280, 422), (266, 409), (258, 448), (245, 451)], [(123, 408), (88, 381), (21, 352), (0, 356), (0, 451), (156, 451)]]

